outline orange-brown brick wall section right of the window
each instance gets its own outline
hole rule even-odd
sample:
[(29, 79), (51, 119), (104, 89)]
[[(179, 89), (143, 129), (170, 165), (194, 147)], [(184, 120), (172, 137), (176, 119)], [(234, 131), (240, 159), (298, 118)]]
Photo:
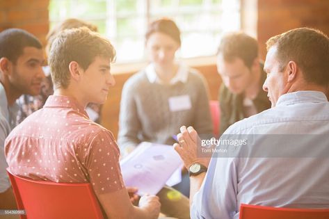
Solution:
[(320, 29), (329, 35), (329, 1), (258, 0), (257, 36), (262, 58), (268, 38), (298, 27)]

